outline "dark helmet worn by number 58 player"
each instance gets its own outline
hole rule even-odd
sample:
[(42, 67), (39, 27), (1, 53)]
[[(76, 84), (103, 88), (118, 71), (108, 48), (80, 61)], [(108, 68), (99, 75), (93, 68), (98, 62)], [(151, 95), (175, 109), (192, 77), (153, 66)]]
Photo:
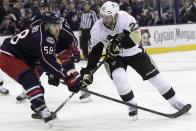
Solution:
[(61, 17), (55, 12), (45, 12), (42, 15), (42, 21), (45, 24), (60, 24)]

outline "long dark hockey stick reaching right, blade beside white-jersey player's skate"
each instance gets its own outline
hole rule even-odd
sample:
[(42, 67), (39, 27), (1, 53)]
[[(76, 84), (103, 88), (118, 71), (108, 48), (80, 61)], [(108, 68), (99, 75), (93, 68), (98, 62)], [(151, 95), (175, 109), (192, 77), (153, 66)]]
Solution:
[(137, 109), (147, 111), (147, 112), (150, 112), (150, 113), (153, 113), (153, 114), (161, 115), (161, 116), (164, 116), (164, 117), (168, 117), (168, 118), (177, 118), (177, 117), (187, 113), (191, 108), (191, 105), (187, 104), (181, 110), (177, 111), (176, 113), (166, 114), (166, 113), (161, 113), (161, 112), (151, 110), (151, 109), (148, 109), (148, 108), (145, 108), (145, 107), (141, 107), (141, 106), (138, 106), (138, 105), (134, 105), (134, 104), (131, 104), (131, 103), (127, 103), (127, 102), (124, 102), (124, 101), (121, 101), (121, 100), (117, 100), (117, 99), (114, 99), (112, 97), (108, 97), (108, 96), (105, 96), (105, 95), (102, 95), (102, 94), (98, 94), (96, 92), (92, 92), (92, 91), (89, 91), (89, 90), (85, 90), (85, 89), (81, 89), (81, 90), (86, 92), (86, 93), (90, 93), (92, 95), (99, 96), (101, 98), (105, 98), (107, 100), (111, 100), (111, 101), (114, 101), (114, 102), (117, 102), (117, 103), (120, 103), (120, 104), (131, 106), (131, 107), (135, 107)]

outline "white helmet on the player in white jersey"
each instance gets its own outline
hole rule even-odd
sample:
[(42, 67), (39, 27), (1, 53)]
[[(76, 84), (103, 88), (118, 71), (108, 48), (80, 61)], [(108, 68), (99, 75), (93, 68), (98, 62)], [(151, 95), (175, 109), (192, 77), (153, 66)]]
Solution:
[(117, 3), (107, 1), (102, 5), (100, 14), (102, 16), (112, 16), (114, 18), (115, 14), (117, 14), (119, 10), (119, 5)]

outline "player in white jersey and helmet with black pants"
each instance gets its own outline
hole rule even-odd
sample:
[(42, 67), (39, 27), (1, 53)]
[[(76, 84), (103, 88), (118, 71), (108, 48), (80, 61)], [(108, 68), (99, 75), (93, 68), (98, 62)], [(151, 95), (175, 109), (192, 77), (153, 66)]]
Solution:
[[(109, 75), (123, 101), (137, 104), (127, 78), (126, 69), (131, 66), (143, 80), (148, 80), (171, 106), (181, 110), (186, 104), (176, 97), (173, 87), (162, 77), (158, 68), (145, 52), (141, 32), (134, 17), (119, 11), (115, 2), (107, 1), (100, 9), (102, 18), (91, 29), (91, 52), (86, 68), (81, 70), (81, 84), (93, 82), (91, 71), (97, 66), (105, 47), (110, 57), (106, 61)], [(129, 116), (136, 116), (137, 109), (129, 107)]]

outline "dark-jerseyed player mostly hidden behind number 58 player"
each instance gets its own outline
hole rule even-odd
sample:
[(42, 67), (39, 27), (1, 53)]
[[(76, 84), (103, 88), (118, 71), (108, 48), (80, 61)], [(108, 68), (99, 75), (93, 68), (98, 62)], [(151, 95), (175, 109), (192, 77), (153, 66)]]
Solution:
[[(32, 24), (29, 26), (32, 27), (35, 25), (39, 25), (41, 22), (40, 19), (41, 14), (48, 10), (51, 11), (51, 9), (52, 9), (52, 2), (50, 0), (41, 0), (40, 14), (34, 16)], [(80, 51), (77, 48), (77, 39), (66, 21), (62, 23), (62, 28), (59, 33), (59, 38), (58, 38), (58, 43), (56, 46), (55, 53), (62, 59), (61, 61), (63, 61), (63, 63), (67, 63), (66, 66), (63, 66), (64, 68), (75, 69), (75, 63), (80, 61)], [(67, 58), (70, 60), (68, 61)], [(66, 59), (66, 61), (64, 61), (63, 59)], [(41, 66), (37, 66), (36, 69), (38, 70), (39, 75), (43, 73)], [(48, 83), (50, 85), (54, 85), (54, 86), (59, 85), (59, 79), (57, 79), (56, 76), (51, 75), (50, 73), (46, 73), (46, 74), (48, 75)], [(18, 102), (23, 102), (27, 98), (28, 97), (26, 96), (26, 92), (23, 91), (19, 96), (17, 96), (16, 100)], [(82, 102), (92, 101), (90, 94), (82, 91), (79, 99)]]

